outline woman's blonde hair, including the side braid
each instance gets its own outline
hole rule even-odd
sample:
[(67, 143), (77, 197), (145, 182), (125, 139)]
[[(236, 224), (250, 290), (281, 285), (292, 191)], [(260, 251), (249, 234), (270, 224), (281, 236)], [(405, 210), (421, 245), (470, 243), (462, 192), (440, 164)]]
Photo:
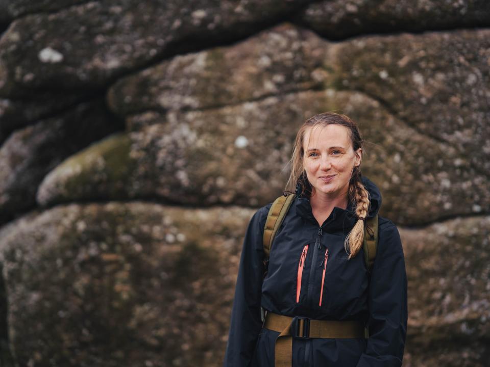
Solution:
[[(311, 185), (306, 177), (306, 172), (303, 167), (304, 148), (303, 143), (306, 135), (306, 131), (313, 126), (326, 126), (326, 125), (341, 125), (347, 127), (349, 130), (349, 137), (352, 142), (352, 148), (356, 151), (362, 148), (363, 140), (359, 132), (359, 128), (356, 123), (352, 121), (346, 115), (340, 115), (334, 112), (325, 112), (319, 115), (315, 115), (300, 127), (298, 134), (296, 135), (295, 146), (291, 156), (291, 173), (286, 183), (286, 191), (296, 192), (300, 190), (300, 195), (311, 195)], [(344, 243), (346, 251), (349, 253), (349, 259), (354, 257), (362, 247), (364, 239), (364, 220), (369, 212), (369, 193), (364, 188), (361, 182), (361, 171), (359, 166), (354, 167), (352, 176), (349, 181), (349, 199), (356, 206), (356, 216), (358, 220), (354, 224), (347, 235)]]

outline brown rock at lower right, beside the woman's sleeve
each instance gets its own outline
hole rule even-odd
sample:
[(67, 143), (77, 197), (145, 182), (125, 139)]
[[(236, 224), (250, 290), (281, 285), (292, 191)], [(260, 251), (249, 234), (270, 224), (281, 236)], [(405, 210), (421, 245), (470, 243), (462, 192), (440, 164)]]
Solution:
[(408, 366), (486, 366), (490, 217), (401, 230), (408, 276)]

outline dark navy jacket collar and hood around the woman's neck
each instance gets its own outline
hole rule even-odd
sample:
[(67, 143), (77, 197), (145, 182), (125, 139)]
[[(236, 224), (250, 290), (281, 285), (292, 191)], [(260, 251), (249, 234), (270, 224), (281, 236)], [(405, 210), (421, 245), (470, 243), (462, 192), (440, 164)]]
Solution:
[[(370, 208), (369, 213), (367, 213), (367, 217), (371, 218), (378, 214), (379, 209), (381, 207), (381, 193), (376, 185), (366, 177), (362, 176), (361, 178), (362, 185), (369, 192), (370, 195)], [(302, 194), (300, 192), (300, 186), (296, 186), (296, 200), (295, 200), (296, 213), (303, 217), (305, 220), (312, 221), (313, 223), (317, 223), (316, 219), (313, 216), (313, 212), (311, 211), (310, 199), (308, 194)], [(325, 221), (333, 226), (341, 226), (342, 228), (352, 227), (357, 221), (357, 217), (355, 214), (354, 203), (349, 200), (346, 209), (342, 209), (339, 207), (334, 207), (332, 213), (329, 218)]]

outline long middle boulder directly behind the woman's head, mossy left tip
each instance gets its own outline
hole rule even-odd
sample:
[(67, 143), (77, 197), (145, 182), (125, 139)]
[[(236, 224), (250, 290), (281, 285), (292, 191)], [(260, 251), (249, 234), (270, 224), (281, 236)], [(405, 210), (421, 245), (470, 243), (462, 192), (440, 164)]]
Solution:
[(457, 149), (418, 133), (362, 93), (334, 90), (134, 116), (129, 140), (112, 140), (117, 150), (93, 145), (64, 162), (41, 184), (38, 202), (157, 196), (193, 205), (264, 205), (284, 190), (300, 124), (338, 109), (369, 142), (363, 172), (379, 185), (387, 217), (423, 224), (490, 204), (487, 177)]

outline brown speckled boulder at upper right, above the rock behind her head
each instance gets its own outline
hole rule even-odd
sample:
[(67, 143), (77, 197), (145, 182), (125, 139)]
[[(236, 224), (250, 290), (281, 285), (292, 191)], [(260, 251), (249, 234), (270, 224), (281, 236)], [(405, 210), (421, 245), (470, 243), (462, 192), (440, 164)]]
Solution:
[(369, 94), (490, 174), (490, 31), (364, 37), (335, 47), (325, 65), (333, 85)]

